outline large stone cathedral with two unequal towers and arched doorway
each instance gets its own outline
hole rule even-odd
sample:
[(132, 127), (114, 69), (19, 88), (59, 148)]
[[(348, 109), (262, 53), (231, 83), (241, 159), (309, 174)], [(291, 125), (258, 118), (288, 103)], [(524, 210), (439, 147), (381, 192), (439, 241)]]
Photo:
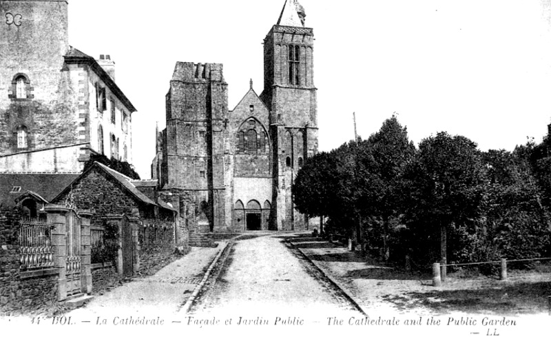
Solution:
[(218, 63), (178, 62), (157, 131), (152, 176), (194, 232), (299, 231), (315, 220), (293, 205), (293, 179), (318, 152), (313, 29), (286, 0), (264, 38), (264, 90), (229, 110)]

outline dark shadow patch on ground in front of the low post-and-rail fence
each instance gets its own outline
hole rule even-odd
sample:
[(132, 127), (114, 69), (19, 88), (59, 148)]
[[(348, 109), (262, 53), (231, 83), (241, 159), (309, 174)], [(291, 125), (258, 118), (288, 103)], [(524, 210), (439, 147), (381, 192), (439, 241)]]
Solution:
[(453, 291), (410, 292), (382, 298), (399, 309), (427, 307), (439, 314), (464, 311), (475, 314), (539, 314), (548, 311), (551, 283), (514, 283), (502, 287)]

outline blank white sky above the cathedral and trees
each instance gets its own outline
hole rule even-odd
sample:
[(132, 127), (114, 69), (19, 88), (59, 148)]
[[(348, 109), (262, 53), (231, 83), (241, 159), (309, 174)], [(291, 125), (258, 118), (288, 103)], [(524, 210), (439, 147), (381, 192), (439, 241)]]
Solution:
[[(319, 150), (393, 114), (415, 144), (445, 131), (479, 149), (540, 142), (551, 123), (551, 0), (300, 0), (315, 34)], [(176, 61), (223, 63), (233, 109), (263, 89), (262, 40), (284, 0), (69, 0), (69, 39), (110, 54), (150, 178)]]

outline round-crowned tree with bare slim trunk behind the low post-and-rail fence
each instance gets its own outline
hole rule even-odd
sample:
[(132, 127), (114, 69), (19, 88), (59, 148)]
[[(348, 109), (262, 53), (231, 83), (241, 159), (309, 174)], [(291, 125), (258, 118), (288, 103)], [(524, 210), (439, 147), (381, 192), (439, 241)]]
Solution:
[(464, 136), (440, 132), (419, 143), (415, 161), (406, 171), (409, 222), (414, 228), (423, 227), (422, 232), (414, 229), (414, 233), (433, 240), (440, 234), (441, 263), (446, 265), (448, 230), (481, 216), (485, 172), (477, 144)]

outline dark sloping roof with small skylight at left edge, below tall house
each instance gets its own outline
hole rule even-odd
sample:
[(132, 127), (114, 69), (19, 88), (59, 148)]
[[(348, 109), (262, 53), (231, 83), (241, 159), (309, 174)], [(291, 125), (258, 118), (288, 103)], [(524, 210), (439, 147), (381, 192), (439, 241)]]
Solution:
[(78, 173), (0, 173), (0, 205), (14, 206), (15, 199), (28, 191), (41, 196), (46, 201), (52, 201), (79, 175)]

